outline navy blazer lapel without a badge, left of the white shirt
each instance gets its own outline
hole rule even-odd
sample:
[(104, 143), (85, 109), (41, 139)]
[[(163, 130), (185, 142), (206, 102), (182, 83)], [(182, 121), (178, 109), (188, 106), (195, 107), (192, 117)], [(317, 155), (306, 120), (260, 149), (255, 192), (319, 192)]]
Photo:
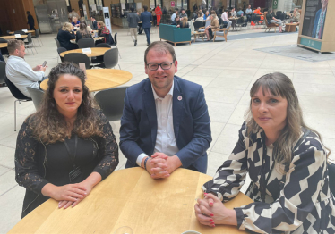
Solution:
[(151, 144), (152, 147), (155, 147), (156, 137), (157, 137), (157, 114), (156, 114), (156, 104), (153, 98), (151, 82), (147, 81), (147, 84), (144, 88), (144, 92), (142, 93), (143, 102), (145, 106), (146, 113), (148, 115), (148, 120), (150, 122), (151, 129)]

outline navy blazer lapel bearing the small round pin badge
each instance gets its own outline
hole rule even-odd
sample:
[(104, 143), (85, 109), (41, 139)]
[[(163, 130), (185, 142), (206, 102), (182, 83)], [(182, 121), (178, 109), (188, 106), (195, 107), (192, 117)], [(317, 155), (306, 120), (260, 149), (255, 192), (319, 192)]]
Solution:
[(179, 126), (180, 121), (183, 119), (184, 114), (184, 102), (185, 98), (183, 96), (183, 90), (178, 83), (176, 77), (174, 78), (174, 91), (173, 91), (173, 102), (172, 102), (172, 109), (173, 109), (173, 125), (175, 130), (175, 138), (176, 142), (179, 135)]

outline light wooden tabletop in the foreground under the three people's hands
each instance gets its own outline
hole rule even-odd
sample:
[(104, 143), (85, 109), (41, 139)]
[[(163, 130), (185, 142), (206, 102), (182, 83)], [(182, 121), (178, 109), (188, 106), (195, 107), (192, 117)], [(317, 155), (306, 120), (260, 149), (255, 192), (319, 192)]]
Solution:
[[(58, 209), (49, 199), (19, 221), (8, 233), (111, 233), (128, 226), (138, 233), (247, 233), (233, 226), (210, 228), (195, 217), (195, 198), (210, 176), (177, 169), (168, 179), (152, 180), (142, 168), (114, 171), (74, 208)], [(240, 193), (228, 208), (253, 201)]]

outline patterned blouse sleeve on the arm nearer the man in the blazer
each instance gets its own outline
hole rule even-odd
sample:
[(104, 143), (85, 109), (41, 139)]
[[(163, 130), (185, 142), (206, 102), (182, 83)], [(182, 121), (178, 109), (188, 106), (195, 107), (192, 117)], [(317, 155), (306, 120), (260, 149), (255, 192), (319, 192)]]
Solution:
[(202, 190), (206, 193), (215, 194), (224, 202), (233, 199), (245, 183), (245, 175), (247, 173), (246, 160), (244, 123), (241, 130), (239, 130), (237, 144), (228, 160), (219, 167), (213, 180), (202, 186)]

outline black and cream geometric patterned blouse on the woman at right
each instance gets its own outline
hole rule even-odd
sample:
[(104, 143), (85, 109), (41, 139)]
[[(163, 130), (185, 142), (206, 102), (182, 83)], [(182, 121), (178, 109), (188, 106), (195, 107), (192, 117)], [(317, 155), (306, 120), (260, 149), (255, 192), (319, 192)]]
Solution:
[[(262, 202), (261, 174), (263, 171), (263, 178), (268, 177), (274, 163), (272, 151), (272, 145), (265, 145), (264, 131), (248, 138), (244, 123), (232, 154), (202, 190), (226, 202), (238, 194), (249, 172), (252, 182), (246, 195), (254, 202), (235, 208), (238, 229), (256, 233), (335, 233), (335, 198), (328, 185), (326, 152), (320, 139), (310, 132), (286, 169), (275, 163), (264, 183), (266, 194)], [(284, 176), (286, 182), (280, 183)]]

